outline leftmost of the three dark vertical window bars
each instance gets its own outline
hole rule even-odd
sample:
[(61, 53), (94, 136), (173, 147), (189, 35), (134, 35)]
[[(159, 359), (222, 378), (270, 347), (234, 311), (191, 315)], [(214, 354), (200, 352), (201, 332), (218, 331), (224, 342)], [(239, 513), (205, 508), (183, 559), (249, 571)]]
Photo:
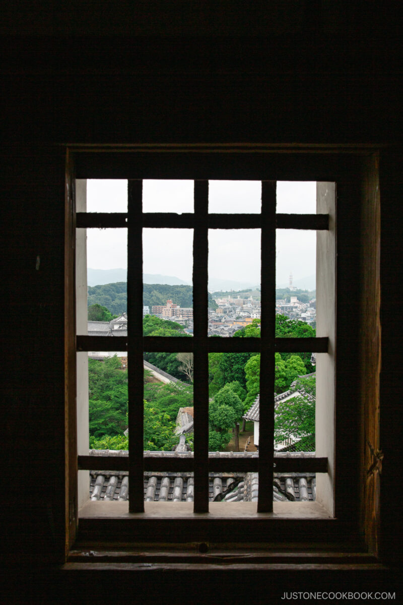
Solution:
[(129, 512), (143, 512), (143, 181), (129, 180), (127, 194)]

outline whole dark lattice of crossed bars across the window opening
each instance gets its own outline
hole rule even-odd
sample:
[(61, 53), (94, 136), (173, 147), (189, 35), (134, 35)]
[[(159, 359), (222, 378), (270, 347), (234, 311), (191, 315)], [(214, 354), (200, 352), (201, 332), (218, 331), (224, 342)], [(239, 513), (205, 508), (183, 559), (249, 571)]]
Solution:
[[(327, 352), (328, 339), (275, 338), (276, 229), (328, 229), (329, 216), (276, 214), (276, 181), (262, 181), (261, 214), (208, 214), (208, 180), (195, 180), (194, 214), (144, 213), (142, 180), (128, 180), (127, 214), (77, 213), (77, 227), (127, 228), (127, 315), (131, 329), (126, 337), (77, 336), (77, 351), (127, 350), (128, 365), (129, 459), (102, 457), (108, 469), (129, 469), (130, 512), (144, 511), (144, 471), (193, 471), (194, 511), (208, 512), (209, 471), (258, 471), (258, 512), (272, 511), (274, 469), (274, 352)], [(193, 228), (193, 318), (192, 339), (143, 337), (143, 227)], [(208, 325), (208, 229), (261, 229), (261, 308), (260, 339), (214, 339), (207, 336)], [(193, 459), (147, 459), (143, 452), (143, 353), (193, 352), (195, 408), (195, 451)], [(208, 458), (208, 353), (260, 352), (260, 446), (256, 459)], [(98, 460), (97, 460), (98, 462)], [(79, 468), (89, 469), (92, 457), (79, 456)], [(236, 468), (234, 466), (236, 465)], [(158, 468), (157, 468), (158, 466)], [(175, 466), (175, 468), (172, 468)], [(123, 468), (125, 467), (125, 468)], [(242, 468), (241, 468), (242, 467)], [(276, 459), (276, 471), (326, 472), (326, 458)]]

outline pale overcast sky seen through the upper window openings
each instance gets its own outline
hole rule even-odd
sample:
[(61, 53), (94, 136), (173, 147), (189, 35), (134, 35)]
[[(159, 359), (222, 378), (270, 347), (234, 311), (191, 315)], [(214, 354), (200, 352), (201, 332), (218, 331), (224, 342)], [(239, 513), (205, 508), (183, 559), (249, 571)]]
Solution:
[[(260, 181), (210, 181), (210, 212), (260, 212)], [(88, 180), (88, 212), (126, 212), (126, 180)], [(314, 213), (316, 183), (277, 182), (277, 212)], [(193, 181), (144, 180), (143, 212), (193, 212)], [(144, 229), (143, 271), (192, 283), (192, 229)], [(212, 278), (260, 283), (260, 230), (211, 230), (208, 272)], [(276, 284), (315, 274), (315, 231), (278, 229)], [(125, 229), (88, 229), (91, 269), (127, 267)]]

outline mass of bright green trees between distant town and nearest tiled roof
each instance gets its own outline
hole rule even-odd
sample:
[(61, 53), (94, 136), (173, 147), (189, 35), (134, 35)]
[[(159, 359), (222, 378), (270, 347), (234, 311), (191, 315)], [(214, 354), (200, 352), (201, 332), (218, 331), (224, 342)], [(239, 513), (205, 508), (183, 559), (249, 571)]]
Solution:
[[(107, 313), (108, 309), (95, 307), (97, 312)], [(97, 320), (95, 320), (97, 321)], [(102, 321), (102, 320), (100, 320)], [(237, 338), (259, 338), (260, 319), (236, 333)], [(143, 320), (146, 336), (182, 336), (191, 338), (184, 332), (183, 326), (174, 321), (163, 320), (155, 316), (146, 316)], [(285, 316), (276, 316), (276, 335), (311, 336), (315, 331), (308, 324), (294, 321)], [(304, 355), (304, 354), (302, 354)], [(301, 354), (276, 353), (276, 392), (287, 390), (298, 375), (306, 373), (306, 364)], [(308, 355), (308, 354), (307, 354)], [(179, 384), (161, 384), (153, 382), (149, 371), (144, 371), (144, 449), (171, 450), (178, 443), (175, 435), (175, 420), (179, 408), (193, 406), (192, 385), (185, 384), (185, 374), (181, 366), (191, 358), (183, 358), (176, 353), (145, 353), (144, 358), (156, 367), (180, 379)], [(188, 368), (191, 376), (191, 368)], [(259, 393), (260, 355), (253, 353), (210, 353), (209, 355), (210, 397), (209, 407), (209, 448), (221, 450), (230, 441), (231, 427), (240, 420), (244, 411), (253, 403)], [(189, 378), (188, 378), (189, 379)], [(305, 384), (305, 383), (304, 383)], [(304, 387), (308, 392), (309, 383)], [(282, 414), (284, 424), (277, 427), (279, 439), (286, 431), (301, 436), (305, 448), (306, 440), (311, 439), (306, 422), (302, 422), (303, 405), (298, 397), (293, 399), (292, 408), (285, 408)], [(309, 404), (311, 405), (311, 404)], [(312, 406), (309, 407), (312, 410)], [(294, 424), (291, 417), (294, 414)], [(314, 415), (313, 415), (314, 417)], [(307, 422), (309, 421), (309, 416)], [(298, 422), (298, 427), (295, 424)], [(308, 422), (309, 424), (309, 422)], [(291, 427), (291, 428), (290, 428)], [(116, 356), (105, 361), (89, 360), (89, 433), (93, 448), (110, 450), (127, 449), (127, 370), (121, 367)], [(295, 431), (299, 430), (299, 433)], [(285, 438), (285, 437), (283, 437)]]

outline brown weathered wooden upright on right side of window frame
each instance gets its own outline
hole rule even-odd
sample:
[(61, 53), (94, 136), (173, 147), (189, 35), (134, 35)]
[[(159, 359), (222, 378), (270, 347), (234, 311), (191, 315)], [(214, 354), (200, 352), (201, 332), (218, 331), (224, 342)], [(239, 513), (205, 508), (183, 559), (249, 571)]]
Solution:
[(379, 522), (383, 453), (379, 439), (379, 375), (381, 371), (381, 215), (379, 199), (379, 156), (363, 161), (361, 232), (360, 315), (360, 454), (362, 491), (361, 526), (370, 552), (379, 552)]

